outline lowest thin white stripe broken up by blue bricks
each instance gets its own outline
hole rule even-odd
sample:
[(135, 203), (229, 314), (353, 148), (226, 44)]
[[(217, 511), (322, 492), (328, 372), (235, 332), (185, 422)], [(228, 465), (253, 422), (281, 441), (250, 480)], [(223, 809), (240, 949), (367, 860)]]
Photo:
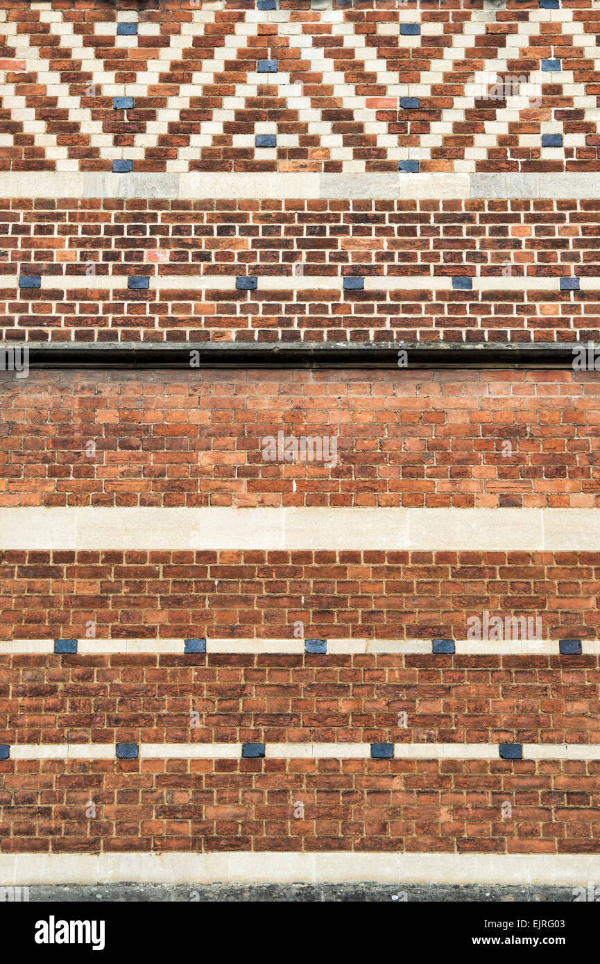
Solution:
[[(267, 760), (367, 760), (369, 743), (265, 743)], [(500, 760), (498, 743), (395, 743), (407, 760)], [(140, 743), (142, 760), (239, 760), (241, 743)], [(115, 743), (12, 743), (12, 760), (116, 760)], [(252, 758), (247, 758), (252, 759)], [(524, 760), (600, 760), (600, 744), (524, 743)]]

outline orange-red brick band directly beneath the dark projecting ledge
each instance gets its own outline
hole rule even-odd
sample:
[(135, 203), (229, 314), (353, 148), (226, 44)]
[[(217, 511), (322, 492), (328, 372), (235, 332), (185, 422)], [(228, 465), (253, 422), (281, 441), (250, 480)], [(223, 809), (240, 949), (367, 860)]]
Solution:
[[(599, 504), (595, 372), (36, 369), (0, 387), (2, 507)], [(264, 461), (280, 431), (337, 437), (336, 465)]]

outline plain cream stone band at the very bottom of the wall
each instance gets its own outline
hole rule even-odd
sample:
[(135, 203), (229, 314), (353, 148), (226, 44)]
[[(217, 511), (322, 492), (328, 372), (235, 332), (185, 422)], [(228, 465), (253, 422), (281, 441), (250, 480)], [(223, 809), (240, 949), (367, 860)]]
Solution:
[[(0, 854), (4, 886), (138, 883), (561, 884), (600, 879), (598, 854), (19, 853)], [(559, 916), (559, 915), (558, 915)]]

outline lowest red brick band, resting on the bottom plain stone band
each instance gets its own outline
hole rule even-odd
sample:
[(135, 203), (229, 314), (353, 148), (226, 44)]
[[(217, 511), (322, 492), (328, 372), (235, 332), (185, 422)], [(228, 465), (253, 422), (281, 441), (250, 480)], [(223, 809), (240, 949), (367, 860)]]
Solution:
[(599, 772), (550, 760), (5, 760), (0, 853), (595, 853)]

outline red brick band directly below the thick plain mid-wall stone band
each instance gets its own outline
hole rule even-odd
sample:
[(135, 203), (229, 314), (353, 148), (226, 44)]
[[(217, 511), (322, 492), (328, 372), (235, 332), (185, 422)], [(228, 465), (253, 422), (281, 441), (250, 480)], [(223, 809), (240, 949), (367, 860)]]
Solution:
[[(465, 638), (484, 609), (599, 637), (597, 552), (0, 552), (2, 635)], [(567, 631), (568, 630), (568, 631)]]

